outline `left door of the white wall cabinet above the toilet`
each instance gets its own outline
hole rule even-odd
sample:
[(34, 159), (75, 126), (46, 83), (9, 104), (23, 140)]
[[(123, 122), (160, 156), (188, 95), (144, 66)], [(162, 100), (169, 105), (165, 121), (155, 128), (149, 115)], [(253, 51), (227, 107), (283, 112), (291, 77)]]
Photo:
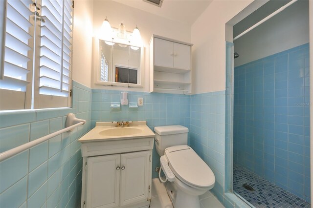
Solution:
[(155, 65), (173, 68), (173, 42), (155, 38)]

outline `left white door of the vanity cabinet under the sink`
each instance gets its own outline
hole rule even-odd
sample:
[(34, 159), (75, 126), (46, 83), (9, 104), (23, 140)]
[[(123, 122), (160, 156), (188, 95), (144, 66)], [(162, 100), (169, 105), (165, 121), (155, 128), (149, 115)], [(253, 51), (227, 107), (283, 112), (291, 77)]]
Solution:
[(87, 158), (88, 208), (112, 208), (118, 206), (120, 154)]

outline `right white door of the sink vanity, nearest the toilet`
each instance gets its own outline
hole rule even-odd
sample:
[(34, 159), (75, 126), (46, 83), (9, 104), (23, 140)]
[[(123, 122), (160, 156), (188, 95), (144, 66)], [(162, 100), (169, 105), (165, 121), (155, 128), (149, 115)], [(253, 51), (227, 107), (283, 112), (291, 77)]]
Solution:
[(151, 168), (149, 156), (150, 151), (121, 155), (119, 206), (146, 200), (149, 197), (149, 168)]

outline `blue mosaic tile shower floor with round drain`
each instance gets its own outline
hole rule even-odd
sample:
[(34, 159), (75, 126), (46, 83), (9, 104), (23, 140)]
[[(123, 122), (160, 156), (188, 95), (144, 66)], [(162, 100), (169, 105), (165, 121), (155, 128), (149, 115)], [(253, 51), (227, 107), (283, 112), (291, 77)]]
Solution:
[[(255, 191), (246, 190), (248, 184)], [(311, 204), (244, 167), (234, 165), (234, 192), (256, 208), (310, 208)]]

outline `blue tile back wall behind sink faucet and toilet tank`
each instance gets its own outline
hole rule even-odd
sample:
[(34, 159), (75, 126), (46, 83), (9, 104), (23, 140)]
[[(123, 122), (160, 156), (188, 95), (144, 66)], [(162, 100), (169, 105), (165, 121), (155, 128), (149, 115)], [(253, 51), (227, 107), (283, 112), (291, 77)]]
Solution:
[[(137, 103), (143, 98), (143, 106), (132, 109), (121, 105), (120, 110), (111, 110), (111, 102), (120, 102), (121, 92), (118, 90), (92, 89), (91, 128), (96, 122), (112, 121), (147, 121), (152, 131), (155, 126), (190, 124), (190, 95), (128, 92), (130, 103)], [(157, 178), (155, 170), (160, 165), (159, 156), (154, 148), (152, 160), (152, 177)]]

